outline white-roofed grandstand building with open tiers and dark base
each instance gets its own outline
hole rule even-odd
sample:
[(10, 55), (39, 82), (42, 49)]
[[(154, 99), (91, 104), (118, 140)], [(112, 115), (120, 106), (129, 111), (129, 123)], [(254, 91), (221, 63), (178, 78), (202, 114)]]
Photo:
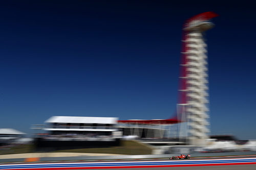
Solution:
[(115, 127), (117, 117), (52, 116), (39, 129), (36, 145), (42, 147), (93, 147), (118, 145), (122, 132)]

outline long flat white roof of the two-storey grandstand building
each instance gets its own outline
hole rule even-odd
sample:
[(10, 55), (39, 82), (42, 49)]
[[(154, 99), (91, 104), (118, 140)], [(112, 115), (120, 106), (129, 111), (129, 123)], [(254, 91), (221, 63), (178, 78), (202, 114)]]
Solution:
[(116, 124), (118, 117), (52, 116), (45, 123)]

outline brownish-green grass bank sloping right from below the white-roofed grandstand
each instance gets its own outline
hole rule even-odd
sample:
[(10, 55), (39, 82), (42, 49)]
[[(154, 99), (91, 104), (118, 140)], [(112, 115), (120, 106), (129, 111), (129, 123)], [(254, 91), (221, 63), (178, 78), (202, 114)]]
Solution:
[(123, 154), (123, 155), (149, 155), (152, 149), (144, 144), (133, 140), (122, 140), (120, 147), (109, 148), (86, 148), (59, 150), (54, 152), (75, 152), (75, 153), (102, 153), (102, 154)]

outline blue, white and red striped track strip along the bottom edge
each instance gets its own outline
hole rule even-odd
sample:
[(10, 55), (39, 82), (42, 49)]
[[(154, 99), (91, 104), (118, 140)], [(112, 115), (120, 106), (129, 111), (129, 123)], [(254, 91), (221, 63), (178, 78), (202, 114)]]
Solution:
[(0, 169), (60, 170), (60, 169), (256, 169), (256, 156), (194, 158), (190, 160), (111, 160), (58, 163), (0, 164)]

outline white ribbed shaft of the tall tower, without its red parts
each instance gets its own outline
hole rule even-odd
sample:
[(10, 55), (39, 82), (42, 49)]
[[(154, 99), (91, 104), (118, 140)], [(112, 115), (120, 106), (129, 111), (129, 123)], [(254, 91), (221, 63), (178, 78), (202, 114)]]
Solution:
[[(202, 32), (191, 31), (187, 34), (187, 119), (190, 144), (203, 144), (202, 139), (207, 139), (209, 130), (207, 126), (207, 56), (206, 44)], [(201, 139), (201, 140), (200, 140)]]

